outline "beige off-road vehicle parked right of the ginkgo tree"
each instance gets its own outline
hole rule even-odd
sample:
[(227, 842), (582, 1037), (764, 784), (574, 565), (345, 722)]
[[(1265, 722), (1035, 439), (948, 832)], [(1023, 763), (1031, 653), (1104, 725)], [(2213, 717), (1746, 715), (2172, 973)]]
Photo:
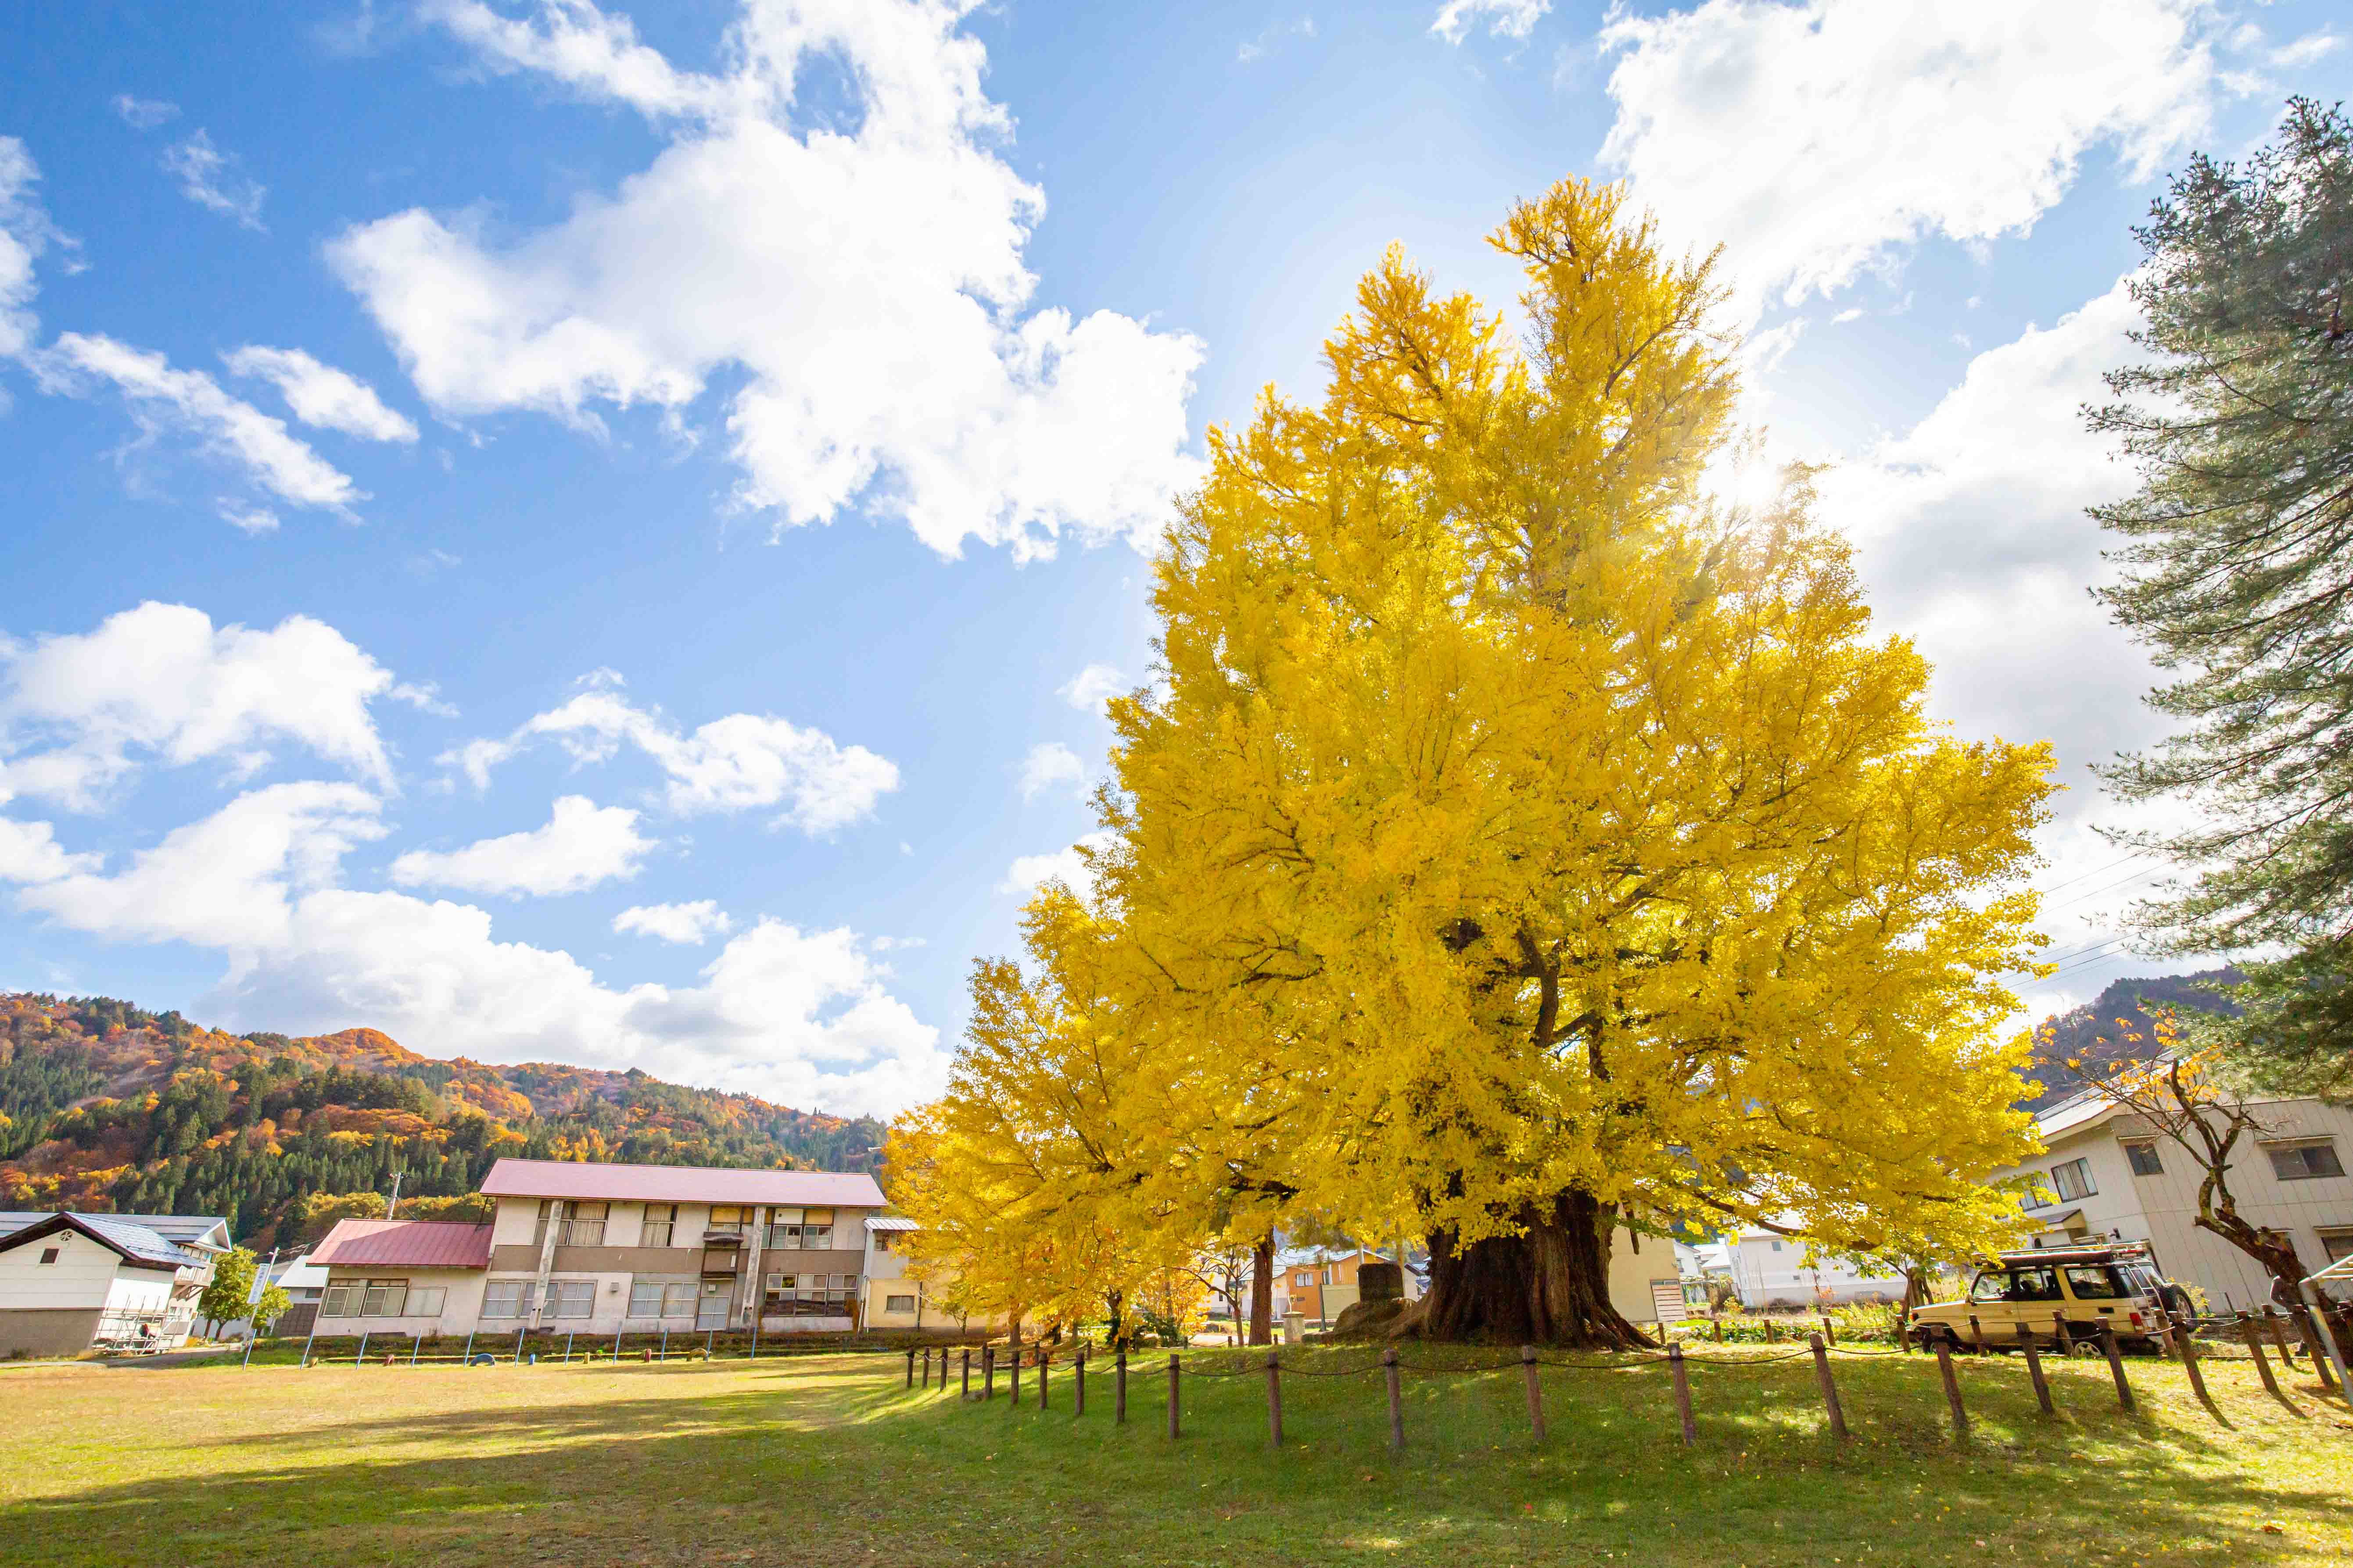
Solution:
[[(2141, 1244), (2035, 1248), (2002, 1253), (1977, 1272), (1958, 1302), (1929, 1302), (1911, 1314), (1911, 1335), (1927, 1349), (1939, 1340), (1955, 1349), (1984, 1345), (2007, 1349), (2019, 1342), (2019, 1324), (2045, 1345), (2059, 1342), (2066, 1319), (2068, 1347), (2113, 1328), (2125, 1345), (2155, 1347), (2165, 1333), (2165, 1307), (2181, 1288), (2167, 1284)], [(1974, 1326), (1972, 1326), (1974, 1319)]]

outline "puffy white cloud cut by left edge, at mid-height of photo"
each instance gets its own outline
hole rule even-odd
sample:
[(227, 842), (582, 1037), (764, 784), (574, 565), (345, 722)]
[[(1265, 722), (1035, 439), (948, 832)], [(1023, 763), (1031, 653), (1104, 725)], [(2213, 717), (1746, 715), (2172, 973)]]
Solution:
[(0, 637), (0, 759), (9, 790), (73, 811), (101, 809), (139, 755), (249, 776), (285, 741), (391, 788), (369, 712), (381, 696), (431, 701), (325, 621), (214, 628), (151, 599), (89, 632)]

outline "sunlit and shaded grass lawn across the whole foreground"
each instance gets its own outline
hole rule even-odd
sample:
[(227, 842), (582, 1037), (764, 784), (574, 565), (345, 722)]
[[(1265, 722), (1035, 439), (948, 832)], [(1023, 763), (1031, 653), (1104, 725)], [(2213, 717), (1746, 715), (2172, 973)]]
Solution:
[(2209, 1366), (2221, 1425), (2158, 1361), (2137, 1418), (2104, 1363), (2052, 1363), (2052, 1420), (2017, 1361), (1965, 1359), (1969, 1446), (1922, 1356), (1838, 1361), (1845, 1446), (1805, 1359), (1694, 1371), (1697, 1448), (1664, 1371), (1546, 1371), (1544, 1446), (1515, 1368), (1409, 1373), (1402, 1458), (1377, 1375), (1287, 1378), (1271, 1453), (1259, 1375), (1188, 1375), (1169, 1443), (1162, 1382), (1115, 1427), (1101, 1361), (1082, 1420), (1068, 1368), (1049, 1410), (901, 1368), (7, 1368), (0, 1563), (2353, 1561), (2353, 1418), (2297, 1378), (2299, 1420), (2245, 1363)]

